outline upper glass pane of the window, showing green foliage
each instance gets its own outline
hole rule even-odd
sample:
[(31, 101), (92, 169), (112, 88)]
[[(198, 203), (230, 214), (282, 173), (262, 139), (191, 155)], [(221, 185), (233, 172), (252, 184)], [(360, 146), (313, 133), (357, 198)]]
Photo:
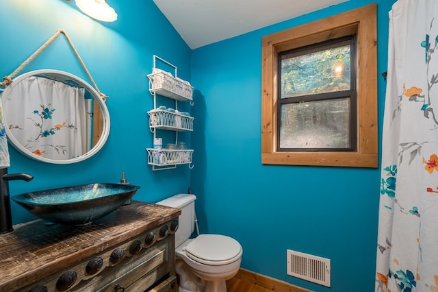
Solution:
[(281, 56), (281, 98), (350, 90), (350, 40)]

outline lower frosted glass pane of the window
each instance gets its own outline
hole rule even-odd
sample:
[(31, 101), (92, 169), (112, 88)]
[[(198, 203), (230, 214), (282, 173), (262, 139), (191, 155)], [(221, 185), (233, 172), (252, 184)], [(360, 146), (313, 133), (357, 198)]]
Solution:
[(350, 98), (281, 105), (280, 149), (349, 147)]

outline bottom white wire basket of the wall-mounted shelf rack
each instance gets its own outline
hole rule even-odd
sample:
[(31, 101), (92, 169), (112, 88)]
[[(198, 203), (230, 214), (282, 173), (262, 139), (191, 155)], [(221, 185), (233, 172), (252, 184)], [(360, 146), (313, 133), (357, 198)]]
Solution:
[[(148, 165), (153, 167), (175, 168), (176, 165), (189, 165), (192, 169), (192, 149), (156, 149), (146, 148)], [(172, 167), (173, 166), (173, 167)], [(157, 170), (157, 169), (154, 169)]]

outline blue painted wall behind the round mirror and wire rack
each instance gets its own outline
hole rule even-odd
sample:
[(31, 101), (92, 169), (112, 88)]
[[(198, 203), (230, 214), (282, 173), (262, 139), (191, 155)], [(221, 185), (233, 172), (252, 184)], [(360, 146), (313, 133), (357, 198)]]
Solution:
[[(10, 75), (57, 29), (65, 29), (101, 92), (110, 96), (106, 104), (111, 117), (110, 136), (103, 149), (73, 165), (38, 162), (10, 147), (9, 173), (34, 175), (31, 182), (10, 182), (12, 195), (90, 182), (120, 182), (123, 171), (129, 182), (141, 186), (133, 199), (157, 202), (187, 190), (187, 166), (152, 171), (147, 165), (145, 148), (152, 147), (153, 134), (146, 112), (153, 108), (153, 98), (146, 75), (152, 72), (155, 54), (178, 66), (179, 77), (190, 80), (192, 52), (153, 1), (108, 3), (118, 12), (114, 23), (90, 19), (76, 9), (75, 1), (3, 1), (0, 77)], [(64, 70), (89, 81), (63, 35), (20, 73), (35, 69)], [(34, 217), (12, 202), (12, 219), (20, 223)]]

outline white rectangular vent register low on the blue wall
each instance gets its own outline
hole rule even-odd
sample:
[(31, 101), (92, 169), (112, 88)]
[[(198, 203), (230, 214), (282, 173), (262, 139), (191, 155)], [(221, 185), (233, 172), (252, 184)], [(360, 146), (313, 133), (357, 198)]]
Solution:
[(287, 275), (330, 287), (330, 260), (287, 250)]

